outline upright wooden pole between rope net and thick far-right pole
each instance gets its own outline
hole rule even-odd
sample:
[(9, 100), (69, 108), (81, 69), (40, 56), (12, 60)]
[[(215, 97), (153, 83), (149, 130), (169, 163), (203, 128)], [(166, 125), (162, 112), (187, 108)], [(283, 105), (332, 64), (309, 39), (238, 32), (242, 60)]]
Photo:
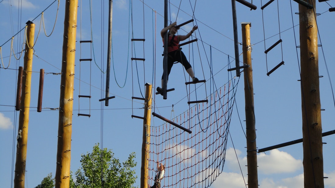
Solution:
[(250, 46), (251, 23), (242, 23), (242, 51), (243, 63), (250, 65), (244, 68), (244, 95), (246, 101), (246, 135), (247, 135), (247, 164), (248, 164), (248, 188), (258, 187), (256, 129), (254, 109), (254, 86), (251, 66)]

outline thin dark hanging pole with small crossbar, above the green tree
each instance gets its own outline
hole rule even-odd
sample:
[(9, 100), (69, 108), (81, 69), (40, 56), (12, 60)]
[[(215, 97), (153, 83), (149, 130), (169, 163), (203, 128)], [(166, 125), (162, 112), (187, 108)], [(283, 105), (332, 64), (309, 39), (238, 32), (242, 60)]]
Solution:
[(106, 97), (105, 106), (109, 105), (109, 81), (111, 75), (111, 53), (112, 53), (112, 14), (113, 0), (109, 0), (109, 17), (108, 17), (108, 46), (107, 46), (107, 69), (106, 69)]

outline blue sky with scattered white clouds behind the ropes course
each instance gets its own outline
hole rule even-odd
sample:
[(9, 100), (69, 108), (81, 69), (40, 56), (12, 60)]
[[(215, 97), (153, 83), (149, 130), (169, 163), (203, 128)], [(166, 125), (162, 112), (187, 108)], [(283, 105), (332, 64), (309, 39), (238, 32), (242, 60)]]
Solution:
[[(22, 3), (17, 6), (18, 2)], [(4, 0), (0, 2), (0, 25), (3, 28), (0, 36), (0, 45), (2, 45), (2, 60), (4, 66), (9, 63), (11, 41), (9, 40), (18, 30), (24, 28), (27, 20), (32, 20), (38, 16), (53, 1), (29, 1), (29, 0)], [(265, 4), (267, 1), (264, 1)], [(121, 161), (125, 161), (131, 152), (136, 152), (136, 161), (138, 163), (136, 173), (139, 186), (140, 156), (142, 141), (142, 120), (132, 119), (131, 115), (142, 116), (143, 104), (139, 101), (131, 100), (131, 97), (141, 97), (144, 95), (144, 83), (154, 84), (154, 87), (160, 86), (160, 76), (162, 73), (162, 42), (160, 30), (163, 27), (163, 1), (148, 0), (145, 5), (139, 0), (134, 0), (133, 20), (129, 17), (129, 1), (113, 1), (113, 67), (111, 67), (110, 96), (116, 96), (110, 100), (109, 107), (98, 102), (104, 98), (105, 92), (105, 74), (100, 69), (106, 70), (107, 56), (107, 29), (108, 29), (108, 1), (93, 2), (92, 4), (92, 38), (93, 50), (77, 42), (76, 46), (76, 67), (75, 67), (75, 85), (74, 85), (74, 106), (73, 106), (73, 128), (71, 143), (71, 170), (76, 171), (80, 167), (80, 155), (90, 152), (95, 143), (103, 141), (103, 147), (112, 149), (115, 156)], [(192, 19), (192, 9), (188, 1), (171, 1), (169, 18), (178, 23)], [(257, 10), (250, 11), (240, 3), (237, 6), (237, 22), (239, 41), (242, 42), (241, 22), (251, 22), (250, 37), (252, 46), (252, 64), (254, 78), (254, 103), (257, 129), (257, 147), (264, 148), (283, 142), (288, 142), (302, 138), (302, 117), (301, 117), (301, 93), (299, 79), (299, 28), (298, 28), (298, 5), (294, 1), (280, 1), (279, 7), (277, 1), (271, 3), (263, 11), (260, 9), (260, 1), (253, 2)], [(178, 6), (180, 4), (180, 10)], [(90, 14), (89, 2), (79, 1), (78, 21), (77, 21), (77, 40), (90, 40)], [(175, 6), (177, 7), (175, 7)], [(292, 12), (291, 14), (291, 5)], [(195, 8), (194, 8), (195, 6)], [(316, 3), (319, 28), (319, 73), (320, 93), (322, 109), (322, 128), (323, 132), (334, 130), (334, 101), (330, 81), (334, 84), (335, 76), (331, 70), (334, 70), (333, 43), (335, 36), (334, 20), (335, 13), (329, 12), (330, 7), (334, 7), (332, 1)], [(103, 7), (103, 8), (102, 8)], [(230, 1), (206, 1), (196, 4), (192, 2), (194, 16), (199, 29), (196, 36), (200, 39), (194, 48), (183, 47), (184, 53), (190, 59), (195, 75), (199, 79), (210, 77), (210, 68), (208, 59), (212, 59), (212, 70), (217, 73), (213, 80), (218, 87), (224, 85), (230, 76), (227, 71), (227, 64), (234, 61), (234, 42), (232, 28), (232, 13)], [(31, 85), (31, 102), (29, 114), (29, 131), (26, 162), (26, 187), (37, 186), (48, 173), (55, 175), (56, 171), (56, 153), (57, 153), (57, 130), (58, 130), (58, 111), (50, 110), (59, 106), (59, 88), (60, 76), (53, 73), (60, 72), (62, 57), (62, 38), (64, 21), (64, 2), (60, 2), (59, 13), (55, 30), (50, 37), (44, 34), (43, 26), (39, 37), (36, 40), (35, 56), (33, 57), (33, 72)], [(155, 12), (156, 11), (156, 21)], [(44, 23), (47, 34), (52, 31), (55, 23), (57, 2), (44, 12)], [(278, 13), (279, 10), (279, 13)], [(80, 14), (82, 13), (82, 14)], [(81, 15), (81, 16), (80, 16)], [(278, 19), (279, 15), (279, 19)], [(292, 21), (293, 17), (293, 21)], [(102, 19), (103, 18), (103, 19)], [(41, 16), (34, 20), (36, 24), (35, 39), (40, 27)], [(132, 22), (131, 22), (132, 21)], [(144, 23), (143, 23), (144, 21)], [(292, 23), (293, 22), (293, 23)], [(132, 28), (129, 27), (132, 24)], [(264, 28), (263, 28), (264, 23)], [(293, 25), (294, 30), (293, 30)], [(183, 26), (178, 32), (186, 34), (192, 29), (192, 24)], [(130, 28), (130, 29), (129, 29)], [(155, 30), (156, 29), (156, 30)], [(268, 48), (274, 42), (283, 40), (282, 46), (279, 45), (265, 55), (265, 46)], [(264, 32), (263, 32), (264, 31)], [(130, 37), (129, 37), (130, 32)], [(138, 42), (135, 46), (129, 43), (133, 32), (133, 38), (144, 38), (145, 46)], [(294, 33), (295, 32), (295, 33)], [(23, 32), (14, 37), (14, 51), (20, 52), (20, 46), (23, 43)], [(156, 37), (156, 38), (155, 38)], [(297, 44), (295, 44), (295, 42)], [(201, 42), (202, 41), (202, 42)], [(5, 44), (4, 44), (5, 43)], [(155, 45), (154, 45), (155, 44)], [(212, 53), (210, 54), (210, 46)], [(135, 50), (134, 50), (135, 48)], [(146, 58), (145, 64), (131, 62), (130, 58)], [(198, 51), (199, 49), (199, 51)], [(281, 50), (282, 49), (282, 50)], [(95, 58), (91, 67), (82, 63), (79, 66), (79, 58)], [(155, 52), (155, 53), (153, 53)], [(240, 53), (242, 46), (240, 45)], [(156, 54), (156, 56), (154, 56)], [(188, 56), (190, 54), (190, 57)], [(207, 56), (206, 56), (207, 55)], [(229, 56), (229, 58), (228, 58)], [(242, 61), (242, 55), (240, 61)], [(279, 67), (275, 72), (267, 76), (267, 69), (277, 65), (281, 61), (285, 65)], [(103, 63), (102, 63), (103, 62)], [(155, 66), (154, 66), (155, 65)], [(15, 156), (13, 148), (16, 146), (16, 135), (18, 126), (18, 112), (14, 111), (16, 79), (18, 66), (23, 66), (23, 58), (15, 60), (12, 56), (9, 69), (0, 69), (0, 160), (3, 162), (0, 166), (0, 182), (3, 187), (10, 187), (12, 184), (12, 158)], [(328, 72), (326, 69), (328, 68)], [(1, 65), (3, 67), (3, 65)], [(79, 69), (80, 67), (80, 69)], [(145, 71), (144, 71), (145, 67)], [(267, 68), (268, 67), (268, 68)], [(46, 73), (44, 80), (44, 93), (42, 112), (36, 112), (38, 80), (40, 68), (44, 68)], [(136, 71), (137, 70), (137, 71)], [(137, 74), (138, 72), (138, 74)], [(235, 72), (232, 72), (233, 76)], [(81, 81), (79, 81), (79, 78)], [(241, 75), (243, 78), (243, 74)], [(187, 78), (188, 80), (188, 78)], [(120, 88), (125, 83), (123, 88)], [(186, 111), (187, 91), (184, 86), (184, 71), (180, 64), (175, 64), (170, 74), (168, 87), (175, 88), (175, 91), (168, 93), (167, 100), (161, 96), (153, 96), (156, 113), (170, 118)], [(80, 83), (80, 84), (79, 84)], [(90, 83), (91, 87), (87, 84)], [(79, 87), (80, 85), (80, 87)], [(139, 86), (140, 85), (140, 86)], [(205, 90), (209, 95), (210, 88), (207, 84), (199, 87), (199, 98), (205, 98)], [(85, 99), (80, 99), (79, 95), (92, 96), (90, 104)], [(86, 94), (87, 93), (87, 94)], [(192, 95), (192, 94), (191, 94)], [(194, 98), (195, 96), (191, 96)], [(174, 113), (171, 112), (174, 105)], [(84, 109), (89, 109), (84, 110)], [(91, 117), (77, 117), (78, 109), (80, 113), (90, 113)], [(238, 110), (238, 111), (237, 111)], [(239, 116), (238, 116), (239, 113)], [(240, 117), (240, 118), (239, 118)], [(240, 161), (243, 176), (247, 179), (246, 163), (246, 139), (243, 133), (245, 124), (244, 114), (244, 83), (240, 80), (237, 95), (236, 107), (233, 110), (230, 123), (230, 133), (235, 146), (238, 159)], [(242, 121), (242, 127), (240, 123)], [(163, 124), (161, 120), (153, 117), (152, 126)], [(325, 179), (325, 187), (335, 187), (335, 169), (333, 161), (333, 149), (335, 143), (334, 135), (323, 137), (324, 173), (328, 179)], [(303, 148), (302, 144), (280, 148), (278, 150), (268, 151), (258, 155), (258, 177), (260, 187), (266, 188), (284, 188), (284, 187), (303, 187)], [(14, 158), (15, 163), (15, 158)], [(15, 164), (14, 164), (15, 165)], [(217, 188), (222, 185), (231, 188), (245, 187), (243, 177), (240, 172), (237, 158), (232, 147), (231, 141), (228, 141), (226, 164), (223, 173), (217, 178), (211, 187)]]

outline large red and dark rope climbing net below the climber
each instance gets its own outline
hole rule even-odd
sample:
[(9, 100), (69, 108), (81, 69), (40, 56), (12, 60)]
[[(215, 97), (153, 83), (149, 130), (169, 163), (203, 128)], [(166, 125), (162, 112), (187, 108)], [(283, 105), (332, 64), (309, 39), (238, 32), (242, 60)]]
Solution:
[[(165, 164), (161, 187), (209, 187), (223, 170), (232, 107), (235, 102), (233, 78), (172, 121), (191, 130), (165, 123), (150, 127), (148, 187), (154, 183), (156, 164)], [(231, 92), (232, 91), (232, 92)]]

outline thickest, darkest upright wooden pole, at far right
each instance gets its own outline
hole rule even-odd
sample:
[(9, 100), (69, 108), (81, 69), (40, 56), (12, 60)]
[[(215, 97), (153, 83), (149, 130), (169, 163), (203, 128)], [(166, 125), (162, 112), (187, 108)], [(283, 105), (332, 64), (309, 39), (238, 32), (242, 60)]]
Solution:
[(316, 2), (312, 9), (299, 4), (300, 66), (304, 148), (304, 184), (323, 188), (321, 103), (319, 88), (318, 28)]

